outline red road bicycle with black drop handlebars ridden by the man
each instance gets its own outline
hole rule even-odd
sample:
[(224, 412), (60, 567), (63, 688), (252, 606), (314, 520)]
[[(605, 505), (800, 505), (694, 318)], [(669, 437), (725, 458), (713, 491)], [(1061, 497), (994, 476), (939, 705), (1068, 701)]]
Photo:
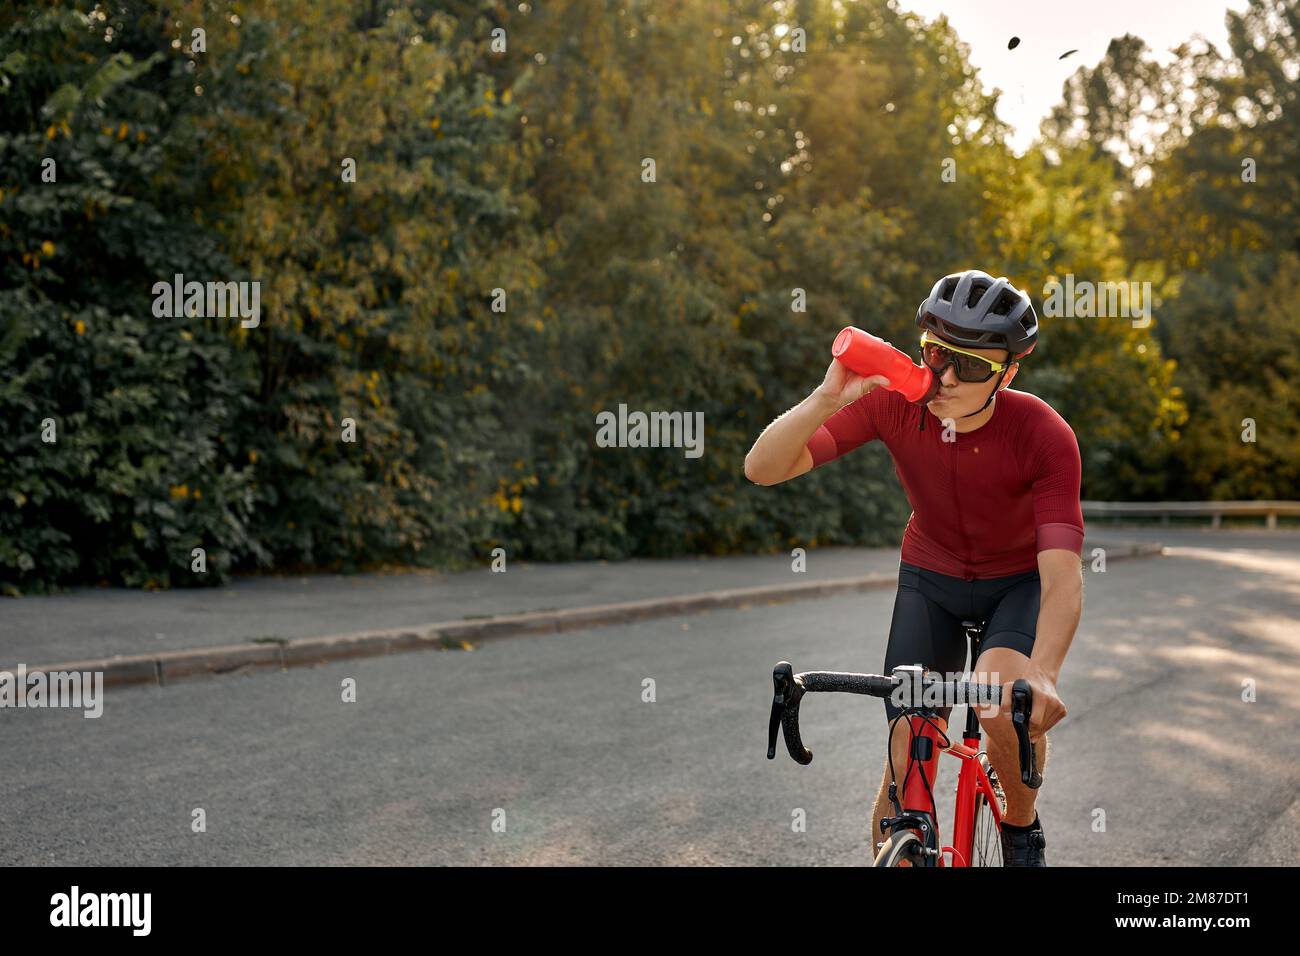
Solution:
[[(979, 659), (984, 622), (963, 620), (970, 641), (970, 659)], [(880, 821), (881, 832), (889, 834), (875, 856), (876, 866), (1001, 866), (1002, 814), (1005, 799), (997, 773), (988, 754), (979, 749), (980, 726), (976, 705), (1002, 702), (1002, 684), (979, 684), (966, 680), (942, 680), (920, 665), (894, 667), (889, 676), (879, 674), (845, 674), (838, 671), (806, 671), (796, 674), (788, 661), (772, 671), (772, 717), (767, 728), (767, 757), (776, 757), (776, 728), (785, 737), (785, 748), (798, 763), (811, 763), (812, 752), (803, 747), (800, 735), (800, 701), (805, 693), (842, 692), (868, 697), (890, 697), (902, 711), (889, 724), (890, 777), (889, 801), (894, 814)], [(966, 730), (962, 743), (954, 744), (935, 723), (939, 708), (966, 704)], [(1024, 679), (1011, 684), (1011, 726), (1019, 744), (1020, 780), (1034, 790), (1043, 783), (1037, 771), (1034, 743), (1030, 740), (1030, 714), (1034, 692)], [(907, 770), (898, 793), (898, 777), (893, 773), (893, 731), (906, 718), (910, 731)], [(939, 813), (932, 782), (939, 769), (939, 753), (962, 761), (957, 775), (957, 803), (953, 810), (953, 842), (940, 844)]]

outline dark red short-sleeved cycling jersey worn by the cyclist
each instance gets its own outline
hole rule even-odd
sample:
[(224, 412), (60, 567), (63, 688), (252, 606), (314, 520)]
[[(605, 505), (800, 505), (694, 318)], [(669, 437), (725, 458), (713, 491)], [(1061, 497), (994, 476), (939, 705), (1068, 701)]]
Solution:
[(928, 408), (874, 389), (840, 408), (809, 440), (812, 467), (880, 438), (911, 503), (902, 559), (975, 580), (1037, 568), (1037, 553), (1083, 553), (1082, 464), (1074, 431), (1028, 392), (1004, 389), (993, 416), (950, 433)]

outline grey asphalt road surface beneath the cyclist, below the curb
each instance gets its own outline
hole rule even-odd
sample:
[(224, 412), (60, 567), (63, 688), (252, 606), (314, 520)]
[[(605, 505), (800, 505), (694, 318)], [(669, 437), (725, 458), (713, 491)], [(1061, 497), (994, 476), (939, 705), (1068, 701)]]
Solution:
[[(1167, 557), (1086, 574), (1039, 799), (1048, 862), (1294, 865), (1300, 536), (1160, 537)], [(0, 710), (0, 864), (864, 865), (883, 704), (810, 698), (816, 758), (768, 761), (770, 675), (879, 670), (892, 602), (110, 691), (99, 719)]]

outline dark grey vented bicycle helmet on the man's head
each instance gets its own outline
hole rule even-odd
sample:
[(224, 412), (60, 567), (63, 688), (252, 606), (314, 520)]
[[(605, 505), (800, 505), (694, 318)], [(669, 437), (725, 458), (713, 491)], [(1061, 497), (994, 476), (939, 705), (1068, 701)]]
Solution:
[(1023, 359), (1037, 343), (1039, 316), (1030, 297), (1006, 277), (979, 269), (944, 276), (916, 310), (916, 325), (967, 349), (1006, 349)]

